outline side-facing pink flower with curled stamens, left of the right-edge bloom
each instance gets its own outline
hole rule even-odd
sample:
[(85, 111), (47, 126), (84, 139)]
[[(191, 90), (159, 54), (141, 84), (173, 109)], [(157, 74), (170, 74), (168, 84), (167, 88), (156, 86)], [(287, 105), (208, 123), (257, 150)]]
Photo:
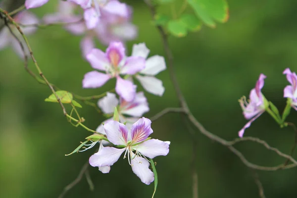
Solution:
[(247, 124), (242, 128), (238, 135), (239, 137), (243, 137), (245, 130), (250, 126), (250, 124), (257, 119), (263, 112), (265, 112), (265, 98), (261, 93), (261, 89), (264, 86), (264, 79), (266, 76), (264, 74), (260, 74), (259, 79), (256, 83), (254, 89), (252, 89), (249, 93), (249, 103), (245, 97), (240, 99), (240, 105), (243, 109), (243, 114), (247, 120)]

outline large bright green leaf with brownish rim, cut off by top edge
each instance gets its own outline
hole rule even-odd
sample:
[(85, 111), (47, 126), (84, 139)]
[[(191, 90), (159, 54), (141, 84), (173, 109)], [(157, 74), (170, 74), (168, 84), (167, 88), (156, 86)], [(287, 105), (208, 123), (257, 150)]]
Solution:
[(209, 27), (215, 27), (215, 20), (221, 23), (229, 18), (226, 0), (187, 0), (197, 16)]

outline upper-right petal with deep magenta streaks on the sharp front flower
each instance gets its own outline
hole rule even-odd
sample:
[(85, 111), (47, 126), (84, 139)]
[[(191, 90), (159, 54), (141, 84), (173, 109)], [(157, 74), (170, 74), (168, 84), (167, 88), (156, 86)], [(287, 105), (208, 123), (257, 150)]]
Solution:
[(151, 121), (148, 118), (140, 118), (131, 127), (131, 138), (133, 144), (145, 141), (153, 132), (150, 127)]

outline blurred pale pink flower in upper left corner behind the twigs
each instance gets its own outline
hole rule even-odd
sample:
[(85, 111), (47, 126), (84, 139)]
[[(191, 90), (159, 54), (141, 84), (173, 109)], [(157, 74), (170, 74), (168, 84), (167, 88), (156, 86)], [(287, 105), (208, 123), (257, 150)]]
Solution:
[[(16, 14), (14, 17), (14, 21), (22, 24), (22, 25), (32, 25), (37, 24), (39, 22), (38, 18), (29, 11), (22, 11), (18, 14)], [(16, 27), (12, 24), (8, 24), (14, 35), (18, 38), (19, 41), (24, 46), (25, 54), (27, 56), (30, 55), (29, 49), (27, 48), (25, 41), (19, 31), (16, 29)], [(21, 27), (23, 33), (25, 35), (31, 35), (34, 34), (37, 30), (34, 26), (28, 26), (28, 27)], [(12, 46), (14, 51), (22, 58), (24, 58), (24, 51), (21, 49), (21, 46), (19, 44), (19, 41), (15, 39), (15, 37), (10, 33), (8, 27), (3, 27), (0, 31), (0, 49), (4, 49), (8, 46)]]

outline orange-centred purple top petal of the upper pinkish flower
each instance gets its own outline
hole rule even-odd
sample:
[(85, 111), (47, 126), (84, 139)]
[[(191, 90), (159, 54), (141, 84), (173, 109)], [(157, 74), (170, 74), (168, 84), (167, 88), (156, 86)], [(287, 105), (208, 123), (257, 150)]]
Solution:
[(125, 57), (125, 48), (122, 42), (111, 42), (106, 49), (106, 56), (114, 67), (118, 66)]

